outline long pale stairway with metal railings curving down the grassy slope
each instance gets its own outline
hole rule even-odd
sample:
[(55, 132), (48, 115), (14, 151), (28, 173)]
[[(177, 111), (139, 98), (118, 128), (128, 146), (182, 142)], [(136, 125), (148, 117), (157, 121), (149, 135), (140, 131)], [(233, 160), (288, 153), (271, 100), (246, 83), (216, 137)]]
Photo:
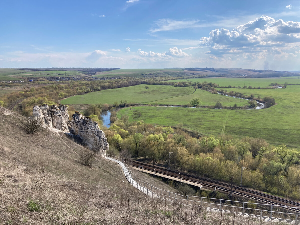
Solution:
[[(248, 214), (249, 216), (255, 216), (260, 220), (286, 220), (287, 223), (295, 221), (294, 224), (298, 224), (298, 214), (297, 213), (290, 213), (288, 212), (288, 208), (286, 207), (286, 211), (283, 211), (284, 207), (281, 205), (270, 205), (270, 204), (263, 204), (263, 203), (255, 203), (255, 202), (240, 202), (240, 201), (233, 201), (227, 199), (216, 199), (216, 198), (208, 198), (208, 197), (201, 197), (201, 196), (189, 196), (189, 195), (181, 195), (178, 193), (174, 193), (167, 190), (162, 190), (158, 187), (153, 186), (147, 182), (141, 181), (138, 179), (134, 173), (132, 173), (130, 167), (127, 165), (124, 159), (119, 158), (113, 155), (107, 155), (107, 157), (114, 158), (119, 162), (122, 162), (128, 172), (130, 173), (132, 179), (143, 187), (143, 189), (138, 188), (140, 190), (144, 190), (144, 193), (148, 194), (151, 191), (152, 197), (161, 198), (161, 199), (168, 199), (173, 202), (177, 202), (179, 204), (190, 205), (190, 206), (199, 206), (204, 207), (210, 210), (219, 210), (224, 212), (232, 212), (236, 214), (245, 215)], [(125, 173), (125, 171), (123, 170)], [(125, 174), (126, 176), (126, 174)], [(127, 178), (127, 177), (126, 177)], [(128, 178), (127, 178), (128, 179)], [(129, 181), (129, 180), (128, 180)], [(129, 181), (131, 184), (133, 182)], [(147, 191), (147, 192), (146, 192)], [(299, 208), (299, 207), (293, 207)]]

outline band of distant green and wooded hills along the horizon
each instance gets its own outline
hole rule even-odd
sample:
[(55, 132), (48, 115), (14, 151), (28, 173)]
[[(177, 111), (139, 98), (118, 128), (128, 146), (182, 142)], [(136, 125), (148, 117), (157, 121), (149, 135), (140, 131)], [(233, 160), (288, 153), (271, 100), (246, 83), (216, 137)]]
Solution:
[(241, 68), (0, 68), (2, 81), (94, 80), (124, 77), (279, 77), (297, 76), (299, 71), (253, 70)]

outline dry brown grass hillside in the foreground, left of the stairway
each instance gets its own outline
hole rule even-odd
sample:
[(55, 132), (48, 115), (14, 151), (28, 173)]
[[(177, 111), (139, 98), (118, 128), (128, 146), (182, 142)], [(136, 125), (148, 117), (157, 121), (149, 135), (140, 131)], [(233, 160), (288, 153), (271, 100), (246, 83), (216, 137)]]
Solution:
[(26, 134), (3, 112), (0, 107), (0, 224), (256, 223), (229, 215), (220, 221), (199, 206), (146, 197), (118, 164), (99, 158), (85, 167), (76, 162), (82, 146), (51, 129)]

